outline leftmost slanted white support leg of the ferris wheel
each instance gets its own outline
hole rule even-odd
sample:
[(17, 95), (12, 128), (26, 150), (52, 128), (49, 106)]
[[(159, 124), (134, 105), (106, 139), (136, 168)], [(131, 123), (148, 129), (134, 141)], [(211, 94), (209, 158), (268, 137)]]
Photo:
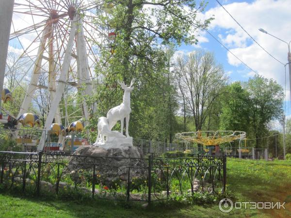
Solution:
[(21, 108), (18, 112), (17, 118), (20, 117), (21, 114), (28, 112), (27, 110), (32, 102), (32, 95), (34, 94), (34, 91), (37, 87), (37, 82), (38, 82), (38, 78), (39, 78), (39, 74), (40, 74), (40, 70), (41, 70), (41, 62), (43, 60), (43, 53), (45, 50), (46, 41), (47, 41), (47, 38), (49, 35), (49, 31), (51, 30), (50, 26), (51, 26), (51, 23), (48, 23), (45, 26), (45, 29), (42, 33), (40, 45), (38, 47), (38, 51), (37, 51), (37, 55), (36, 55), (37, 59), (36, 59), (36, 62), (35, 62), (34, 68), (33, 68), (33, 73), (32, 73), (32, 78), (30, 81), (30, 85), (29, 85), (28, 91), (24, 97), (24, 100), (22, 102)]

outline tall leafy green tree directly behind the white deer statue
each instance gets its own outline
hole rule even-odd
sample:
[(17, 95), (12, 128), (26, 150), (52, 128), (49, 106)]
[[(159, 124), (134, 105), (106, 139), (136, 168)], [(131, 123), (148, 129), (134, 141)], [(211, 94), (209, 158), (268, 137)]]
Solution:
[[(196, 43), (195, 30), (206, 28), (210, 22), (196, 17), (205, 5), (200, 4), (197, 9), (192, 0), (106, 0), (103, 6), (97, 10), (96, 25), (115, 37), (105, 46), (96, 42), (101, 49), (96, 74), (102, 83), (92, 98), (98, 105), (94, 117), (106, 116), (108, 109), (120, 104), (123, 91), (116, 86), (116, 80), (129, 84), (135, 78), (129, 132), (133, 137), (171, 140), (173, 123), (167, 126), (163, 114), (165, 108), (168, 115), (174, 113), (169, 104), (173, 84), (169, 86), (163, 46), (170, 42)], [(106, 8), (110, 10), (104, 16), (102, 9)], [(91, 126), (96, 122), (91, 119)]]

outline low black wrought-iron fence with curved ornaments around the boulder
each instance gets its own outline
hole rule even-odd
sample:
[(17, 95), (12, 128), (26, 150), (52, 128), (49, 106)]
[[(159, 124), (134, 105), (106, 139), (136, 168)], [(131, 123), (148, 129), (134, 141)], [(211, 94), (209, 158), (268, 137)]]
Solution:
[(0, 167), (1, 189), (36, 195), (77, 193), (150, 203), (226, 188), (226, 156), (137, 159), (0, 152)]

